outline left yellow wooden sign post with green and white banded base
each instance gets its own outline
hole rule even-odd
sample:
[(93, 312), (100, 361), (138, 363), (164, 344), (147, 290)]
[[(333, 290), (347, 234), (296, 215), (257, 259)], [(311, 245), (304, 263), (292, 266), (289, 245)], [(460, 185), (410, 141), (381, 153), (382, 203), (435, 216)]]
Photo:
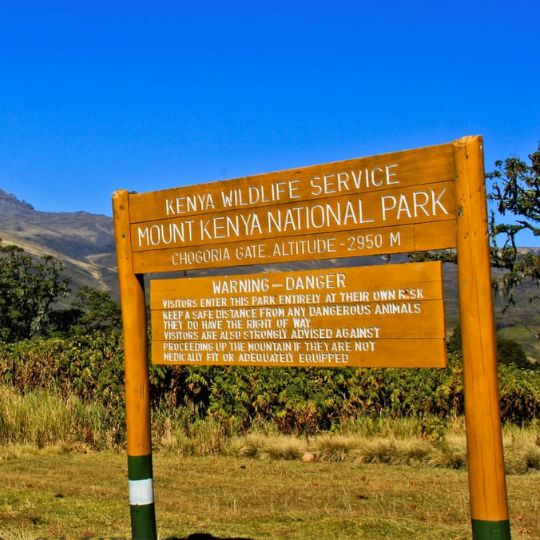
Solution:
[(129, 194), (113, 195), (118, 278), (124, 327), (129, 501), (133, 538), (155, 539), (146, 303), (142, 275), (132, 269)]

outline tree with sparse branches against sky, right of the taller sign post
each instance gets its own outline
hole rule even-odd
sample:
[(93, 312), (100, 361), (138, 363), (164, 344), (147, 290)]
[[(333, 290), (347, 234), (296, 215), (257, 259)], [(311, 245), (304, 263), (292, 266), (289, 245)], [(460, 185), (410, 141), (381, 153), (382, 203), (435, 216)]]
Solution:
[[(491, 180), (488, 198), (495, 204), (490, 215), (491, 262), (502, 270), (496, 275), (494, 287), (506, 297), (506, 307), (515, 303), (518, 285), (531, 280), (540, 286), (540, 256), (520, 252), (517, 236), (528, 230), (540, 236), (540, 145), (529, 155), (530, 165), (516, 157), (495, 162), (495, 170), (486, 175)], [(497, 214), (515, 219), (497, 223)], [(531, 296), (529, 301), (538, 298)]]

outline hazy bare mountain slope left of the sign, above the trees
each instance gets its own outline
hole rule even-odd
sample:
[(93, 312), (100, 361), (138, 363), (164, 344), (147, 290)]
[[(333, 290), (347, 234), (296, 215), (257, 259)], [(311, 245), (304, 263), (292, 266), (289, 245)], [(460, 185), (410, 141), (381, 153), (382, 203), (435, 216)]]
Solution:
[(40, 212), (0, 189), (0, 239), (33, 255), (53, 255), (73, 288), (89, 285), (117, 295), (113, 221), (88, 212)]

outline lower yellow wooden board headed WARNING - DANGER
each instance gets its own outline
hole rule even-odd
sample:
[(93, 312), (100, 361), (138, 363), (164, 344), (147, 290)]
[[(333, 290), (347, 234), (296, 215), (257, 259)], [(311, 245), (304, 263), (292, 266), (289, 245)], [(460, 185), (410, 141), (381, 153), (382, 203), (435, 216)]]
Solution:
[(157, 364), (444, 367), (441, 263), (153, 280)]

